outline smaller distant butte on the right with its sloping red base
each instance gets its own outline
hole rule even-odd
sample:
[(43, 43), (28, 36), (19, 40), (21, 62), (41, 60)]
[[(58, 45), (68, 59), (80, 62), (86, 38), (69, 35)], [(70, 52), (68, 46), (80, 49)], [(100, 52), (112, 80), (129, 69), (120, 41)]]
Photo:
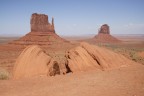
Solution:
[(101, 26), (98, 34), (94, 37), (94, 41), (98, 43), (120, 43), (121, 41), (110, 35), (110, 27), (107, 24)]

